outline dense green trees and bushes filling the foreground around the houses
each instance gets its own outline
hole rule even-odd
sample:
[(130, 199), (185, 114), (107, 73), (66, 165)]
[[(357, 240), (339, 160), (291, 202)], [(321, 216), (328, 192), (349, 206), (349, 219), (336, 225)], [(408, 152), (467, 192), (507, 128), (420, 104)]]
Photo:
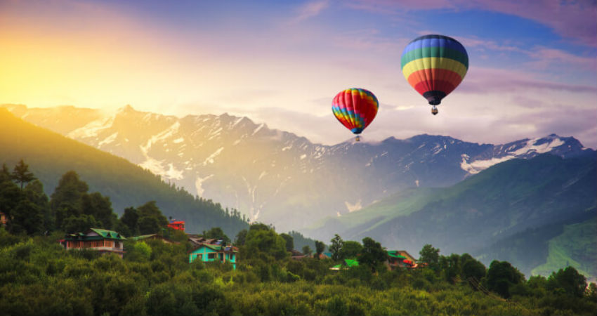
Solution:
[[(440, 255), (427, 244), (419, 268), (388, 270), (379, 242), (329, 241), (331, 258), (291, 258), (294, 232), (254, 223), (234, 240), (221, 228), (203, 232), (239, 247), (229, 263), (188, 263), (187, 235), (162, 230), (154, 202), (126, 209), (88, 193), (67, 172), (48, 199), (25, 162), (0, 171), (0, 315), (595, 315), (597, 286), (572, 267), (528, 279), (511, 263), (487, 268), (468, 254)], [(65, 251), (58, 239), (94, 225), (161, 240), (125, 242), (124, 259), (93, 250)], [(324, 243), (315, 241), (321, 254)], [(309, 250), (305, 245), (302, 249)], [(359, 265), (330, 270), (344, 259)]]

